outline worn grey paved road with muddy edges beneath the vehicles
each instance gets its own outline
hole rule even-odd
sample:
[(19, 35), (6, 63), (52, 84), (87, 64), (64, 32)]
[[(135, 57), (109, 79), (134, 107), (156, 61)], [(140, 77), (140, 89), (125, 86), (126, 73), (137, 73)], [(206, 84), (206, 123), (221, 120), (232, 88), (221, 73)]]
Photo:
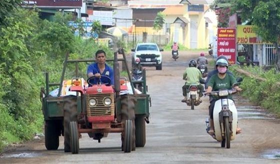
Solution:
[[(262, 156), (280, 148), (279, 120), (239, 119), (243, 132), (226, 149), (205, 132), (207, 97), (194, 110), (180, 102), (182, 72), (187, 61), (198, 54), (180, 51), (178, 60), (173, 61), (170, 52), (163, 52), (162, 70), (146, 67), (152, 106), (145, 147), (123, 153), (119, 133), (109, 134), (101, 143), (83, 135), (79, 154), (71, 154), (63, 152), (61, 137), (58, 150), (47, 151), (42, 140), (32, 141), (11, 149), (0, 163), (279, 163), (279, 159)], [(242, 99), (237, 103), (251, 105)]]

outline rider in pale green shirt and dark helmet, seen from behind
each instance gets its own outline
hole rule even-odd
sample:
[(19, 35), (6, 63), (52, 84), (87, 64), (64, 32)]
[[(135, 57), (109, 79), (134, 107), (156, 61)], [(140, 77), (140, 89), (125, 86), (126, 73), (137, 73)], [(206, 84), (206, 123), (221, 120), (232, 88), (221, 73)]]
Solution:
[(199, 89), (199, 96), (201, 97), (203, 94), (203, 85), (199, 83), (199, 79), (202, 78), (202, 74), (199, 69), (196, 68), (196, 61), (190, 60), (188, 63), (188, 67), (183, 72), (183, 80), (185, 81), (185, 84), (182, 86), (183, 96), (184, 98), (181, 100), (181, 102), (186, 101), (186, 90), (189, 88), (191, 84), (196, 84)]

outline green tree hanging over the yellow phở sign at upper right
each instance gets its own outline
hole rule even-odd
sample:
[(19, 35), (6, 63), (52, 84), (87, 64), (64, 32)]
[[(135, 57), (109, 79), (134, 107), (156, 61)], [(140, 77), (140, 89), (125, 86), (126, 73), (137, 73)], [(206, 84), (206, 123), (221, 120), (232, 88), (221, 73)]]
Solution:
[[(240, 12), (243, 21), (251, 21), (262, 40), (277, 47), (280, 40), (280, 0), (235, 0), (232, 5), (235, 11)], [(277, 66), (280, 67), (280, 52), (276, 49)]]

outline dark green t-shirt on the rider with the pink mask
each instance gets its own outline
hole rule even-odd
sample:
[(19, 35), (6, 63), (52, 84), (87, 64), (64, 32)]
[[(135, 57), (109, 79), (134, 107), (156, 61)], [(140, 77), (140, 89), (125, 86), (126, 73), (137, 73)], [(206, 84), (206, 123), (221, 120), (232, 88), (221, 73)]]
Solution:
[[(213, 91), (219, 89), (231, 89), (232, 85), (237, 83), (233, 75), (226, 73), (223, 79), (218, 77), (218, 74), (214, 74), (210, 77), (208, 86), (212, 87)], [(213, 96), (214, 99), (218, 99), (217, 96)], [(232, 95), (228, 95), (228, 98), (232, 99)]]

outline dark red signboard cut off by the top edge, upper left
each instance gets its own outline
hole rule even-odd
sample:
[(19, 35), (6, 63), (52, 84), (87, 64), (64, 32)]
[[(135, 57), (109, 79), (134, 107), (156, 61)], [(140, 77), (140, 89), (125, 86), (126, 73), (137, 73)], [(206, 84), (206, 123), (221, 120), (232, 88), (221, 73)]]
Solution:
[(39, 7), (81, 7), (82, 0), (23, 0), (23, 5)]

